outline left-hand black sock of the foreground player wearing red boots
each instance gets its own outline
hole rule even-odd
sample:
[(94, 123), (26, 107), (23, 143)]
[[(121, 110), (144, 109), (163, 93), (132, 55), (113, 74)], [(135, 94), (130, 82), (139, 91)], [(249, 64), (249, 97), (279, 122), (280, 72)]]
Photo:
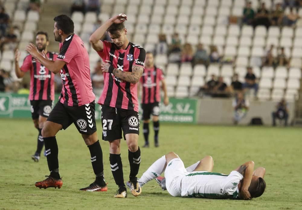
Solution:
[(55, 179), (60, 179), (59, 175), (59, 160), (58, 160), (58, 144), (56, 142), (56, 136), (44, 137), (45, 151), (48, 169), (50, 176)]

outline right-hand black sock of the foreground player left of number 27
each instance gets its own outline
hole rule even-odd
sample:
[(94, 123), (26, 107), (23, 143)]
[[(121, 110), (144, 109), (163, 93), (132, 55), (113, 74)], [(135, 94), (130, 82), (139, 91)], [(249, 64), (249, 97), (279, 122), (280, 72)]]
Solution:
[(92, 145), (88, 146), (90, 152), (90, 160), (92, 164), (93, 171), (95, 173), (95, 182), (101, 186), (104, 186), (104, 166), (103, 166), (103, 152), (100, 142), (97, 141)]

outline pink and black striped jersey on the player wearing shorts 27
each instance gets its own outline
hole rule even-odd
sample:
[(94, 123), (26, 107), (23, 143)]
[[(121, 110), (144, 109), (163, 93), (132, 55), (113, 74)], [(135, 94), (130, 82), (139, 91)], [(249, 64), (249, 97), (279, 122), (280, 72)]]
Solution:
[[(113, 67), (121, 71), (132, 71), (132, 66), (144, 68), (145, 50), (129, 42), (126, 49), (118, 49), (114, 43), (104, 41), (104, 49), (98, 52), (100, 57), (110, 60)], [(113, 74), (104, 73), (104, 90), (98, 103), (110, 107), (138, 111), (137, 84), (123, 81)]]

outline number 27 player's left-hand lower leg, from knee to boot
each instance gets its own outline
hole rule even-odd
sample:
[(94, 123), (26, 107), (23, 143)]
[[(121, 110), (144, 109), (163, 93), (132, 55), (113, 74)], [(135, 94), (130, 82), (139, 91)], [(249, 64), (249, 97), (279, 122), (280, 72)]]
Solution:
[(115, 198), (126, 198), (127, 189), (124, 184), (123, 164), (120, 158), (120, 139), (109, 141), (110, 152), (110, 167), (115, 183), (118, 186), (118, 190), (114, 195)]

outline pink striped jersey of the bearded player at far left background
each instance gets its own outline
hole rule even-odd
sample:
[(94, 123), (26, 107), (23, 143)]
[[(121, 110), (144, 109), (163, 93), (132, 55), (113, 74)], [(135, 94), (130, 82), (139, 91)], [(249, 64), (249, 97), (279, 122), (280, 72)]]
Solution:
[[(56, 60), (57, 54), (47, 52), (47, 57), (51, 60)], [(24, 58), (23, 64), (20, 67), (21, 71), (30, 71), (31, 84), (28, 99), (33, 100), (54, 100), (54, 74), (39, 62), (34, 61), (31, 55)]]

